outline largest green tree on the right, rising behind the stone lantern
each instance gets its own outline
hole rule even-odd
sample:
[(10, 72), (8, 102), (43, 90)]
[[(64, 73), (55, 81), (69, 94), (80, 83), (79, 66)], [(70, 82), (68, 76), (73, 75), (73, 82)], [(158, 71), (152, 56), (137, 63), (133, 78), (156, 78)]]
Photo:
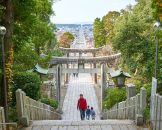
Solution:
[(123, 66), (150, 81), (154, 69), (154, 30), (150, 0), (139, 0), (123, 11), (114, 26), (113, 47), (122, 53)]

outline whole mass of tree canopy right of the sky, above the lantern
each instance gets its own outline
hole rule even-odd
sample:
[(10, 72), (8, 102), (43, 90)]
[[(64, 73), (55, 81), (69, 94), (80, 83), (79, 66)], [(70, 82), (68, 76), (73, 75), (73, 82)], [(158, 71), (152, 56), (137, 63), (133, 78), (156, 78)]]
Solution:
[[(114, 50), (122, 54), (122, 67), (135, 77), (142, 78), (144, 82), (151, 81), (154, 76), (157, 38), (159, 39), (158, 78), (161, 79), (162, 75), (160, 58), (162, 32), (153, 26), (157, 18), (156, 9), (152, 8), (153, 4), (156, 4), (153, 0), (137, 0), (135, 6), (129, 5), (120, 12), (108, 12), (102, 20), (96, 18), (94, 21), (96, 47), (102, 46), (97, 40), (98, 37), (104, 40), (105, 44), (111, 43)], [(99, 26), (101, 23), (102, 26)], [(160, 82), (162, 81), (159, 80)]]

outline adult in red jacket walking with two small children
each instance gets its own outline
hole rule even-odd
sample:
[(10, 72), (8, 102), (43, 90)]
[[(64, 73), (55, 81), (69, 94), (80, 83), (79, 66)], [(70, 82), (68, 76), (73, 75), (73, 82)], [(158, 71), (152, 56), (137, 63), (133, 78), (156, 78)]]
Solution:
[(85, 115), (87, 120), (90, 119), (90, 116), (92, 117), (92, 120), (95, 120), (96, 113), (93, 110), (93, 107), (90, 109), (89, 106), (87, 106), (87, 101), (83, 97), (83, 94), (80, 94), (80, 98), (77, 103), (77, 110), (80, 111), (81, 120), (85, 120)]

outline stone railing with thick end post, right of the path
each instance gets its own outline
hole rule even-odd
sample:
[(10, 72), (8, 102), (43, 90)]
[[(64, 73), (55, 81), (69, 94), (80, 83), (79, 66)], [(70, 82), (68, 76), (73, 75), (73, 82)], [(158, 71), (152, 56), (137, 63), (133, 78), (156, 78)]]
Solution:
[(142, 125), (146, 97), (145, 88), (141, 88), (140, 93), (136, 96), (115, 104), (109, 110), (104, 110), (103, 119), (131, 119), (136, 120), (137, 125)]

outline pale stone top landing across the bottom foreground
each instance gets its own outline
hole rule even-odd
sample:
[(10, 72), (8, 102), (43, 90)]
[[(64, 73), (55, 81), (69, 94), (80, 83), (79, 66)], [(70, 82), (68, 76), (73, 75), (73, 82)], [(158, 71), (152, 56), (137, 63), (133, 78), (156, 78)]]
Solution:
[(149, 130), (135, 125), (131, 120), (43, 120), (33, 121), (29, 127), (18, 130)]

